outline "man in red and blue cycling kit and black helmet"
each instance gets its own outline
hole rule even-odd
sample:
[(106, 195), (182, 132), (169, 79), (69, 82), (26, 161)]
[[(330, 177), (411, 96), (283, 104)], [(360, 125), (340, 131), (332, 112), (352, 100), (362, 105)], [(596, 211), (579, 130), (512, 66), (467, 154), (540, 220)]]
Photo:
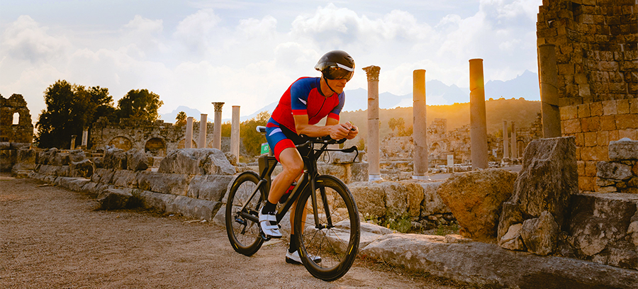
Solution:
[[(322, 77), (301, 77), (286, 90), (266, 125), (266, 139), (281, 164), (283, 171), (272, 181), (272, 187), (264, 208), (259, 212), (259, 225), (264, 234), (280, 238), (279, 226), (276, 222), (276, 203), (291, 188), (293, 181), (303, 173), (303, 161), (295, 145), (303, 144), (308, 137), (330, 135), (332, 139), (347, 138), (352, 140), (359, 130), (351, 123), (339, 123), (339, 113), (345, 102), (343, 89), (354, 74), (354, 60), (341, 50), (333, 50), (320, 58), (315, 69)], [(324, 126), (316, 125), (328, 117)], [(298, 244), (293, 232), (292, 222), (295, 215), (296, 202), (291, 208), (290, 247), (286, 253), (287, 263), (301, 263)], [(306, 214), (306, 212), (298, 212)], [(320, 258), (315, 257), (315, 262)]]

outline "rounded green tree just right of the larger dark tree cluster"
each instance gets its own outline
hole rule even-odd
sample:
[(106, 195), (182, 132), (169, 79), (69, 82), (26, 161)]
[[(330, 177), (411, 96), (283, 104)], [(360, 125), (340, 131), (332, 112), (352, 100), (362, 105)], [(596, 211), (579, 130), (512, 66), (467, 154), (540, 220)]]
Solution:
[(155, 121), (159, 118), (157, 110), (164, 104), (159, 96), (148, 89), (131, 89), (118, 101), (120, 118)]

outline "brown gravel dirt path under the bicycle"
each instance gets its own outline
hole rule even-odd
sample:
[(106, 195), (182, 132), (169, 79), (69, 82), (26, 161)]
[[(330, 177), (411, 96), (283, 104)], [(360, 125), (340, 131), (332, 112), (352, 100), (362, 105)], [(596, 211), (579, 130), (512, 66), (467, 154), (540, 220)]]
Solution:
[(225, 229), (159, 213), (94, 210), (94, 196), (0, 176), (0, 288), (462, 288), (357, 260), (327, 283), (286, 244), (235, 253)]

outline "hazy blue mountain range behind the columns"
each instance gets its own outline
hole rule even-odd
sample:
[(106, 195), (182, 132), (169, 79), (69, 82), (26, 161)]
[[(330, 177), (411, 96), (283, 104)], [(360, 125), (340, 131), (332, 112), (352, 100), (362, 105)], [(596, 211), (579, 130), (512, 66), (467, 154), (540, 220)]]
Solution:
[[(425, 98), (428, 105), (452, 105), (454, 103), (469, 103), (469, 89), (461, 88), (454, 84), (448, 86), (436, 79), (425, 82)], [(342, 111), (358, 111), (366, 110), (368, 108), (368, 92), (365, 89), (352, 89), (345, 91), (346, 103)], [(538, 84), (538, 74), (525, 70), (521, 75), (515, 79), (508, 81), (488, 81), (485, 84), (485, 98), (497, 99), (497, 98), (525, 98), (528, 101), (539, 101), (540, 91)], [(250, 115), (243, 115), (240, 117), (240, 121), (250, 120), (257, 116), (262, 111), (274, 111), (277, 106), (277, 101), (270, 103), (263, 108), (251, 113)], [(379, 108), (398, 108), (398, 107), (411, 107), (413, 105), (413, 94), (405, 94), (397, 96), (389, 92), (379, 94)], [(177, 117), (177, 113), (184, 111), (186, 115), (194, 115), (196, 120), (199, 120), (197, 115), (200, 115), (200, 111), (195, 108), (189, 108), (186, 106), (179, 106), (171, 113), (162, 114), (162, 119), (168, 123), (173, 123)], [(208, 118), (208, 121), (213, 121)], [(230, 121), (230, 119), (223, 119), (223, 122)]]

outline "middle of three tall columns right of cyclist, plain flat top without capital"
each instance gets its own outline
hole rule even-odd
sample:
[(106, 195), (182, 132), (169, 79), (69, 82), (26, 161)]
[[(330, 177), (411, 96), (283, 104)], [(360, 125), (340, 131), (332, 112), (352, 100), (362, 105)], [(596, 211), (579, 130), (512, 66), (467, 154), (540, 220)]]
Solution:
[(413, 72), (414, 171), (412, 179), (427, 180), (427, 122), (425, 120), (425, 69)]

